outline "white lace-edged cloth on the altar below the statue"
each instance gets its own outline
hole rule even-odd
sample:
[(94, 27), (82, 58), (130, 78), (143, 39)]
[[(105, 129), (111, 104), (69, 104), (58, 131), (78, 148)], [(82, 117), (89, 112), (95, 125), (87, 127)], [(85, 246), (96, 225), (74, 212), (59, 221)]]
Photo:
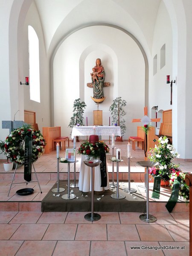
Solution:
[[(94, 129), (95, 128), (95, 131)], [(88, 136), (88, 135), (115, 135), (121, 136), (120, 126), (74, 126), (72, 130), (71, 137), (73, 139), (74, 136)]]

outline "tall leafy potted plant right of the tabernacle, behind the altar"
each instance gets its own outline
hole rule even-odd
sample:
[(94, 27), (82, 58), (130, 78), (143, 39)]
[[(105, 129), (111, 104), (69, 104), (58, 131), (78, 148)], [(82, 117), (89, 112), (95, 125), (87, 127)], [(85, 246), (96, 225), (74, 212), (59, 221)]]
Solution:
[[(121, 97), (116, 97), (113, 100), (112, 105), (109, 108), (109, 111), (112, 115), (112, 125), (118, 125), (121, 128), (121, 135), (125, 134), (126, 126), (125, 126), (125, 119), (123, 116), (126, 115), (125, 110), (123, 107), (127, 105), (127, 102), (122, 99)], [(122, 137), (117, 136), (116, 140), (122, 141)]]

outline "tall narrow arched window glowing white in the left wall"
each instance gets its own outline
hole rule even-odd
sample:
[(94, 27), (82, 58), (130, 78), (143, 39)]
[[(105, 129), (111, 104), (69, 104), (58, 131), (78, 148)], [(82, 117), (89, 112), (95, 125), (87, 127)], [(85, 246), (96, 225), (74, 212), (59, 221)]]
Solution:
[(30, 99), (40, 102), (39, 40), (32, 26), (28, 26)]

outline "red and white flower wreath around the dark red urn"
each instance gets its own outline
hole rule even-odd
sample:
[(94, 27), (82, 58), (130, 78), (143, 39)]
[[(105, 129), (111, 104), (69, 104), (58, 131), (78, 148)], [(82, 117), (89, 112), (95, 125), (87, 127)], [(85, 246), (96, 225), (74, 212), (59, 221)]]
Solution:
[(99, 140), (99, 142), (96, 143), (86, 141), (80, 145), (77, 153), (88, 155), (89, 157), (96, 159), (100, 156), (101, 150), (104, 150), (105, 153), (109, 153), (109, 147), (104, 141)]

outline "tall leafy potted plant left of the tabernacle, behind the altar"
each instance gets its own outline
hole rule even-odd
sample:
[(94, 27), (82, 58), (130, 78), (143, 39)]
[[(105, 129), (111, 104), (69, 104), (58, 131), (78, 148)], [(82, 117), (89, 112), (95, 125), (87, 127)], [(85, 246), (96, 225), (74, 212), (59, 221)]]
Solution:
[[(73, 126), (76, 125), (84, 125), (83, 121), (83, 114), (84, 114), (84, 109), (87, 105), (85, 104), (84, 101), (80, 102), (80, 99), (76, 99), (73, 102), (73, 116), (70, 119), (70, 123), (68, 127), (73, 128)], [(72, 131), (71, 131), (72, 132)], [(70, 133), (71, 134), (71, 133)], [(79, 142), (79, 138), (76, 137), (77, 142)]]

